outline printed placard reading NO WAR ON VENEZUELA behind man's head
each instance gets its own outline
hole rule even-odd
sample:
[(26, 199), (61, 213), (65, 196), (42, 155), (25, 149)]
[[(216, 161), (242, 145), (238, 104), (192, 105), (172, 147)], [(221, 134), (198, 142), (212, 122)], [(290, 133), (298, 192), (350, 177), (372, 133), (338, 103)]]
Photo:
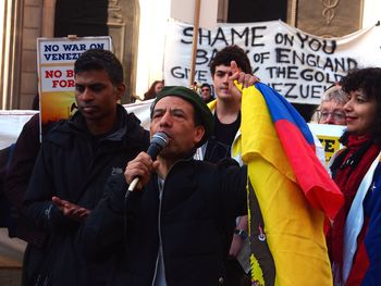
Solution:
[(76, 111), (74, 62), (88, 49), (112, 50), (111, 37), (38, 38), (37, 70), (44, 126)]

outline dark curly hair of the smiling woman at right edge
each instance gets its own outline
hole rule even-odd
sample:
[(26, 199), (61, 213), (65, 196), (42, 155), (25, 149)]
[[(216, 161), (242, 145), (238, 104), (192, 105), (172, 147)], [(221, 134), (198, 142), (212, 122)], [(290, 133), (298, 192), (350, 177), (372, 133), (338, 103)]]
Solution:
[(376, 98), (378, 117), (373, 124), (372, 135), (374, 141), (381, 145), (381, 69), (352, 70), (341, 79), (340, 85), (346, 94), (362, 90), (368, 98)]

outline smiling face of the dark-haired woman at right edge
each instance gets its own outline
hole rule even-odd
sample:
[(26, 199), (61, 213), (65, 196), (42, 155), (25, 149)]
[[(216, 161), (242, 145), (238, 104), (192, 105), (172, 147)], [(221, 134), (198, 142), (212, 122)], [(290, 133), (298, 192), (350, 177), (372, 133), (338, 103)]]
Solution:
[(362, 90), (348, 94), (349, 101), (344, 105), (348, 132), (356, 135), (369, 133), (377, 119), (377, 100), (369, 98)]

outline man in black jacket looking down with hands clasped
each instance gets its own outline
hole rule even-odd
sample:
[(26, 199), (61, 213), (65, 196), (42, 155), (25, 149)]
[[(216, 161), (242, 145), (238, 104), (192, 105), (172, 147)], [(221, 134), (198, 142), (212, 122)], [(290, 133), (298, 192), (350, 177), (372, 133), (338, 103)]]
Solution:
[(41, 248), (30, 249), (25, 285), (105, 285), (110, 263), (84, 261), (77, 229), (107, 178), (123, 173), (149, 144), (136, 116), (118, 104), (125, 86), (114, 54), (88, 50), (75, 62), (74, 74), (78, 112), (45, 136), (25, 194), (28, 217), (48, 233)]

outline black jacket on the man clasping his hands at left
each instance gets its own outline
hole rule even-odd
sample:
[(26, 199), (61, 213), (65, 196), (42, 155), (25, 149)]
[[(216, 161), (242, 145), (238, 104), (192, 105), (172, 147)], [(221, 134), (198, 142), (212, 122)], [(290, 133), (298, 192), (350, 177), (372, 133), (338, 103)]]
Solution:
[(46, 279), (54, 286), (102, 285), (108, 263), (84, 262), (75, 245), (81, 224), (64, 217), (51, 203), (51, 197), (94, 209), (108, 177), (122, 174), (126, 163), (148, 145), (148, 132), (121, 105), (118, 126), (101, 138), (88, 133), (79, 112), (46, 135), (25, 194), (25, 206), (28, 217), (49, 233), (49, 239), (42, 249), (32, 251), (29, 283), (40, 275), (41, 285)]

